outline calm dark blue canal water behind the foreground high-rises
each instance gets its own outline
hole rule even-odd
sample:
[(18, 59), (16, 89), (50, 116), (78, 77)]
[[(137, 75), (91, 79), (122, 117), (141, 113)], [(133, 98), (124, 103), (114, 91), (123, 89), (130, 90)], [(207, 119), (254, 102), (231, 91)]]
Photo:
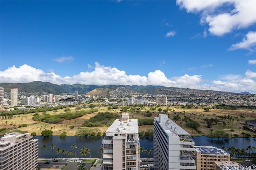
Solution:
[[(74, 150), (71, 147), (74, 143), (76, 144), (76, 158), (82, 158), (80, 151), (83, 147), (89, 148), (91, 155), (86, 154), (85, 157), (87, 158), (100, 158), (100, 147), (102, 144), (103, 137), (34, 137), (35, 139), (38, 139), (38, 145), (39, 145), (39, 158), (52, 158), (52, 150), (50, 149), (50, 145), (54, 144), (55, 148), (53, 150), (54, 158), (68, 158), (66, 155), (59, 154), (57, 155), (55, 150), (57, 147), (64, 149), (66, 151), (71, 150), (73, 152), (72, 158), (75, 157)], [(229, 140), (218, 140), (218, 139), (211, 139), (205, 136), (202, 137), (192, 137), (192, 139), (195, 141), (195, 145), (201, 145), (201, 146), (216, 146), (218, 148), (221, 148), (225, 146), (228, 147), (236, 147), (236, 148), (246, 148), (248, 145), (252, 147), (256, 147), (256, 140), (254, 139), (243, 139), (243, 138), (237, 138), (237, 139), (229, 139)], [(44, 152), (42, 153), (41, 147), (43, 145), (47, 146), (47, 149), (44, 149)], [(140, 138), (140, 147), (143, 147), (145, 150), (150, 150), (153, 148), (153, 137), (141, 137)], [(141, 158), (148, 158), (153, 157), (153, 155), (148, 155), (146, 153), (140, 154)]]

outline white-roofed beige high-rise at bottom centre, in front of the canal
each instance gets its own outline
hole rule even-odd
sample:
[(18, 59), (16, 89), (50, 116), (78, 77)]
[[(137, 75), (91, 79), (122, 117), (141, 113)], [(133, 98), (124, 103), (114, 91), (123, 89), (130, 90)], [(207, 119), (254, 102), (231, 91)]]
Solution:
[(138, 170), (140, 158), (140, 138), (138, 120), (129, 119), (123, 113), (120, 119), (106, 131), (102, 140), (103, 170)]

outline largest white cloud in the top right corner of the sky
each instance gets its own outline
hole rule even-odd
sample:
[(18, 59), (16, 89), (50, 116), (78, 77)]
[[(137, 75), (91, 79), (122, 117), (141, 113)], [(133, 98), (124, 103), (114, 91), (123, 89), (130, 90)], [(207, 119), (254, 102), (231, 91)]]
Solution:
[(255, 0), (177, 0), (180, 8), (201, 15), (208, 31), (221, 36), (256, 23)]

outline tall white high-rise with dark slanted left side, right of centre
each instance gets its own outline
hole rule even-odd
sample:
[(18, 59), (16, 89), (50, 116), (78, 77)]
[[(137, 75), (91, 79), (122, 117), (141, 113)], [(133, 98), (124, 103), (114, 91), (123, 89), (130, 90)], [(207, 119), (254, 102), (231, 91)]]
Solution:
[(189, 133), (160, 114), (154, 119), (154, 170), (196, 170)]

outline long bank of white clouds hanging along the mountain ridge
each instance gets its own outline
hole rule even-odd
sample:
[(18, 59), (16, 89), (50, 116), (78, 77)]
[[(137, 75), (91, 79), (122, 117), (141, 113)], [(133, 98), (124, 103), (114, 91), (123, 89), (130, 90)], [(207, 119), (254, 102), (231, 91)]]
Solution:
[(226, 75), (220, 80), (213, 80), (210, 84), (202, 84), (206, 80), (202, 75), (175, 76), (167, 78), (161, 70), (149, 72), (148, 76), (127, 75), (125, 71), (106, 67), (95, 63), (92, 72), (80, 72), (72, 77), (61, 77), (54, 72), (45, 73), (40, 69), (24, 64), (20, 67), (12, 66), (0, 71), (1, 82), (26, 83), (32, 81), (51, 82), (53, 84), (87, 84), (87, 85), (156, 85), (166, 87), (194, 88), (202, 90), (219, 90), (227, 92), (248, 91), (256, 93), (256, 73), (247, 70), (241, 75)]

